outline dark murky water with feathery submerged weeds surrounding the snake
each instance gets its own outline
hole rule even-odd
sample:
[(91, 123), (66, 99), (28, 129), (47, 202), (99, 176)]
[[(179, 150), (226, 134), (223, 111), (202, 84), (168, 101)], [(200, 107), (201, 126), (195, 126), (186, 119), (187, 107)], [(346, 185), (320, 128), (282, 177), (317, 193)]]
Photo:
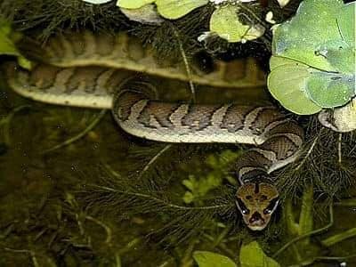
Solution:
[[(292, 2), (289, 11), (276, 9), (276, 17), (285, 20), (295, 11), (298, 1)], [(199, 43), (214, 12), (209, 4), (159, 26), (127, 20), (112, 2), (30, 5), (4, 0), (0, 13), (24, 35), (39, 32), (41, 40), (67, 28), (126, 30), (152, 43), (159, 57), (184, 59), (183, 50), (188, 65), (190, 56), (201, 51), (225, 61), (256, 51), (260, 59), (268, 55), (258, 40)], [(9, 31), (0, 29), (1, 34), (9, 36)], [(1, 42), (4, 38), (0, 48)], [(19, 55), (0, 53), (7, 54), (6, 60)], [(282, 193), (279, 214), (266, 231), (255, 233), (244, 227), (234, 203), (237, 181), (231, 164), (245, 146), (142, 141), (120, 131), (109, 112), (29, 101), (0, 78), (0, 265), (356, 263), (354, 132), (336, 134), (316, 117), (296, 117), (306, 129), (303, 157), (274, 174)], [(160, 82), (176, 89), (169, 93), (173, 98), (187, 87)], [(195, 89), (197, 98), (208, 101), (225, 90)], [(248, 93), (255, 95), (241, 91), (238, 95), (246, 94), (248, 101)], [(236, 92), (226, 92), (234, 101)]]

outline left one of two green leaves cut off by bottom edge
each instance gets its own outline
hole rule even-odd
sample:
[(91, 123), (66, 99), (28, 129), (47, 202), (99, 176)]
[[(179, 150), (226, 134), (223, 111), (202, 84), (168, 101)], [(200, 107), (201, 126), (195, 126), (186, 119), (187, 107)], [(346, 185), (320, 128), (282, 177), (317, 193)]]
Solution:
[(210, 251), (195, 251), (193, 258), (199, 267), (237, 267), (227, 256)]

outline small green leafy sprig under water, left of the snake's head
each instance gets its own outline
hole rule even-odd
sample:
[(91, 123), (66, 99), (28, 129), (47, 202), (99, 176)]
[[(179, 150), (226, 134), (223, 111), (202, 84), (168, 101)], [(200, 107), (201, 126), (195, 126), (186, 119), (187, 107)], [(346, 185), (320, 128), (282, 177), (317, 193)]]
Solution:
[(234, 178), (227, 174), (228, 169), (239, 153), (225, 150), (220, 155), (209, 155), (206, 158), (206, 166), (210, 169), (206, 176), (198, 176), (190, 174), (188, 179), (183, 180), (183, 185), (188, 189), (183, 196), (185, 203), (189, 204), (199, 198), (204, 198), (210, 190), (214, 190), (222, 185), (223, 179), (227, 179), (231, 183), (236, 183)]

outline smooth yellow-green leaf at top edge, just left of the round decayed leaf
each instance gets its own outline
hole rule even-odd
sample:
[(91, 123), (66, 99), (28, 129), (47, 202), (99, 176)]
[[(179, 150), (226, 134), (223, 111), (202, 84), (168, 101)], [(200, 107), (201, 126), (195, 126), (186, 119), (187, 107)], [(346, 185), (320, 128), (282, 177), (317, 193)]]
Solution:
[(208, 2), (208, 0), (156, 0), (155, 4), (162, 17), (176, 20)]

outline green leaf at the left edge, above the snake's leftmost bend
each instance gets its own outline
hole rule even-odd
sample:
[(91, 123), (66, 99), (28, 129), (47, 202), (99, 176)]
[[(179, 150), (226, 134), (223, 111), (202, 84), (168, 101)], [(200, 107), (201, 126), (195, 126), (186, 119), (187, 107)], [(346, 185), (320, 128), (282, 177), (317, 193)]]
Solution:
[(19, 39), (20, 34), (12, 32), (10, 24), (5, 20), (0, 20), (0, 55), (16, 56), (21, 67), (30, 69), (31, 63), (16, 49), (15, 42)]

